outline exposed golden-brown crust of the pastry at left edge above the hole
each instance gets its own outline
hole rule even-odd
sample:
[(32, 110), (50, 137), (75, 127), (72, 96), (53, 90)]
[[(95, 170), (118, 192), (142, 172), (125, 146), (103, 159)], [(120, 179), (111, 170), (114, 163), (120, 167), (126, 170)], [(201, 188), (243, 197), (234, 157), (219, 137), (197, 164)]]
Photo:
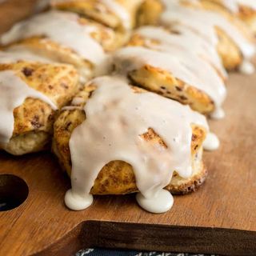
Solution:
[[(70, 65), (17, 62), (0, 64), (0, 71), (2, 70), (13, 70), (28, 86), (46, 94), (58, 108), (70, 102), (79, 89), (78, 73)], [(29, 153), (31, 148), (34, 148), (33, 151), (44, 149), (47, 142), (50, 142), (54, 116), (57, 113), (40, 99), (26, 98), (21, 106), (14, 109), (14, 132), (9, 143), (11, 145), (7, 145), (6, 149), (11, 154)], [(38, 138), (35, 135), (37, 133), (40, 134)], [(24, 137), (26, 134), (27, 138)], [(29, 142), (29, 138), (38, 140), (40, 145), (31, 140)], [(18, 140), (26, 140), (27, 150), (26, 145)], [(19, 144), (20, 148), (15, 144)]]

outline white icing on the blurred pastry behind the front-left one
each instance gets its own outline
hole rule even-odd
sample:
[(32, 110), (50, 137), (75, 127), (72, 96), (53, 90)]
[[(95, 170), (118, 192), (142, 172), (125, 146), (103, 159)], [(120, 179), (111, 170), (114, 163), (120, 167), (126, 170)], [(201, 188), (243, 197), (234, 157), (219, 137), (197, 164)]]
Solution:
[(58, 10), (38, 14), (15, 24), (11, 30), (2, 35), (0, 42), (6, 45), (24, 38), (46, 36), (54, 42), (69, 47), (97, 66), (104, 62), (106, 54), (102, 46), (90, 37), (95, 27), (82, 25), (78, 18), (77, 14)]

